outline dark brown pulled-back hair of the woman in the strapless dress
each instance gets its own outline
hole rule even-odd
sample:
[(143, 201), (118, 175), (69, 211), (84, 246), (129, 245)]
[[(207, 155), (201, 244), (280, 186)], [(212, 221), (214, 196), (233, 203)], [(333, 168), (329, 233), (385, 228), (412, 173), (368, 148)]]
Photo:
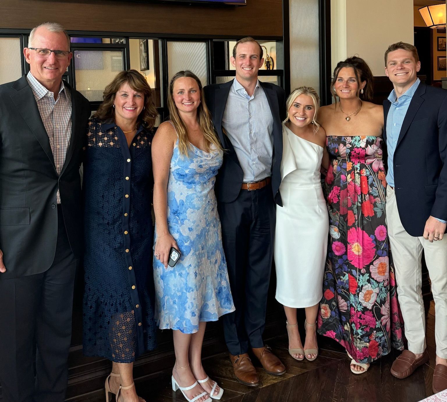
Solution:
[[(331, 82), (331, 93), (335, 99), (335, 105), (337, 105), (337, 95), (335, 93), (335, 83), (337, 82), (338, 73), (343, 67), (353, 68), (355, 79), (357, 80), (357, 99), (362, 103), (362, 99), (365, 101), (371, 101), (374, 94), (374, 76), (372, 75), (371, 68), (369, 68), (367, 62), (358, 56), (348, 57), (344, 61), (339, 61), (334, 69), (333, 79)], [(360, 93), (360, 83), (366, 81), (363, 93)]]

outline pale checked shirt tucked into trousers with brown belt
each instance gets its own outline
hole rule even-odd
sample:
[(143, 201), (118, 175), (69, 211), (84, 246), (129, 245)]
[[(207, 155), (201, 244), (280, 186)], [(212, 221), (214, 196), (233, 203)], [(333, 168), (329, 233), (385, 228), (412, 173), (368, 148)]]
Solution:
[(249, 96), (236, 78), (233, 80), (222, 126), (236, 151), (244, 182), (257, 182), (271, 176), (273, 116), (259, 81), (253, 96)]

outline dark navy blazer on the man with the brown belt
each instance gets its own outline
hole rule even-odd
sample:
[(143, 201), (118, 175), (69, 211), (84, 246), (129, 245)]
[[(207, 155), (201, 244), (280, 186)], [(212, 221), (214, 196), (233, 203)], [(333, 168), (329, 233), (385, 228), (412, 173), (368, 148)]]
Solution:
[[(272, 161), (272, 191), (273, 196), (282, 206), (281, 196), (279, 195), (279, 185), (281, 183), (280, 165), (283, 156), (283, 128), (281, 122), (285, 117), (285, 93), (284, 89), (278, 85), (259, 81), (267, 101), (270, 105), (270, 110), (273, 116), (273, 161)], [(240, 192), (240, 187), (244, 179), (244, 172), (240, 167), (239, 159), (236, 151), (223, 132), (222, 119), (227, 106), (228, 94), (233, 85), (233, 80), (225, 84), (212, 84), (204, 88), (205, 101), (208, 109), (211, 111), (213, 124), (219, 136), (220, 143), (224, 148), (223, 164), (219, 169), (216, 178), (215, 194), (219, 202), (231, 203), (234, 201)]]

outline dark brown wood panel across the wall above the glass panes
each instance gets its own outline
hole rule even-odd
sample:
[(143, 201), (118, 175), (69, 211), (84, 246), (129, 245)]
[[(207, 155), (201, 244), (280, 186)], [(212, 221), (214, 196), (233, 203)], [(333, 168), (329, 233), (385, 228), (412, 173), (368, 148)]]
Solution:
[(57, 21), (67, 30), (282, 37), (282, 0), (243, 7), (143, 4), (111, 0), (2, 0), (0, 28), (31, 29)]

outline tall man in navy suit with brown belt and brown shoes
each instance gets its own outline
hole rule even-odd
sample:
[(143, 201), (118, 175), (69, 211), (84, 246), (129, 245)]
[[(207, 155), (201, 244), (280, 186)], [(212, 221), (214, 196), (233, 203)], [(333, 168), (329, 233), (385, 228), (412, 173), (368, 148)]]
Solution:
[(273, 257), (274, 200), (281, 203), (281, 116), (285, 113), (284, 90), (257, 79), (263, 62), (261, 46), (253, 38), (243, 38), (231, 57), (236, 78), (204, 89), (225, 149), (215, 193), (236, 311), (223, 316), (223, 328), (236, 378), (252, 386), (259, 384), (259, 377), (249, 347), (268, 373), (286, 371), (262, 340)]

